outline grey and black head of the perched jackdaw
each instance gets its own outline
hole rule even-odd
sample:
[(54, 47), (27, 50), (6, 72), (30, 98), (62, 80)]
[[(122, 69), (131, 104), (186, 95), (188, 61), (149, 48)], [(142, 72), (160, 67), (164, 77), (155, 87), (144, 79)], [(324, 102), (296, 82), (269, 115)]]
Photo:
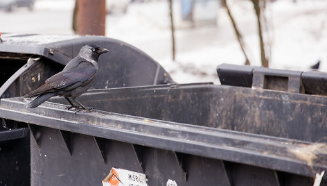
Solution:
[(100, 48), (95, 44), (85, 45), (80, 49), (79, 56), (90, 60), (98, 60), (99, 56), (103, 53), (109, 52), (108, 49)]

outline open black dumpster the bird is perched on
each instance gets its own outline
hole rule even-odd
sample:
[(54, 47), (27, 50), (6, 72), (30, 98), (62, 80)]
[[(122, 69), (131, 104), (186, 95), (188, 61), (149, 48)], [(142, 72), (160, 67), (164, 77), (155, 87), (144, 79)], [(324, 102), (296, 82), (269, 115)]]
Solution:
[(100, 185), (112, 167), (148, 185), (312, 185), (327, 168), (327, 75), (220, 65), (218, 76), (89, 90), (79, 100), (94, 111), (6, 98), (0, 117), (30, 128), (31, 185)]

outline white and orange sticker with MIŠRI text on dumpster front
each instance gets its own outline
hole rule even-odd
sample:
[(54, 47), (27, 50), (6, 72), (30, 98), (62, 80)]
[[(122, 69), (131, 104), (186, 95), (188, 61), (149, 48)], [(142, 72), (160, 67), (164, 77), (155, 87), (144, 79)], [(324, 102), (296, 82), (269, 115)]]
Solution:
[(145, 174), (112, 168), (103, 180), (103, 186), (148, 186)]

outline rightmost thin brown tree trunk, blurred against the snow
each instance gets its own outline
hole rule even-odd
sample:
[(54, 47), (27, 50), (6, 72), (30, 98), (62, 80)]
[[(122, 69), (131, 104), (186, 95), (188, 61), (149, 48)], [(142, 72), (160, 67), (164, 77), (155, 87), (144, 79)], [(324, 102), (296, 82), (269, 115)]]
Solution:
[[(251, 0), (254, 4), (254, 10), (256, 10), (256, 18), (258, 20), (258, 36), (260, 40), (260, 53), (261, 53), (261, 65), (263, 67), (269, 67), (269, 62), (266, 57), (266, 51), (265, 51), (265, 43), (263, 40), (263, 26), (262, 21), (260, 19), (262, 8), (264, 8), (265, 0)], [(262, 4), (261, 4), (262, 3)]]

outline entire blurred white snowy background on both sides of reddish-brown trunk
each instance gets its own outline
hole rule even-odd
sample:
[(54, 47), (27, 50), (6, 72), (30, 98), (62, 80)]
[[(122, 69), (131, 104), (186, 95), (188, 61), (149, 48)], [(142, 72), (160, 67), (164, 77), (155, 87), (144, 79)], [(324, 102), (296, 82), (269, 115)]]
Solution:
[[(173, 1), (177, 56), (172, 60), (168, 1), (130, 3), (126, 14), (107, 15), (106, 36), (130, 43), (157, 60), (177, 83), (219, 83), (217, 65), (244, 65), (226, 10), (218, 1), (195, 3), (195, 24), (181, 19), (180, 1)], [(251, 65), (260, 65), (257, 23), (247, 0), (228, 0), (247, 45)], [(0, 32), (71, 35), (73, 0), (37, 0), (35, 10), (0, 12)], [(269, 66), (307, 71), (321, 60), (327, 72), (327, 1), (278, 0), (267, 3)]]

